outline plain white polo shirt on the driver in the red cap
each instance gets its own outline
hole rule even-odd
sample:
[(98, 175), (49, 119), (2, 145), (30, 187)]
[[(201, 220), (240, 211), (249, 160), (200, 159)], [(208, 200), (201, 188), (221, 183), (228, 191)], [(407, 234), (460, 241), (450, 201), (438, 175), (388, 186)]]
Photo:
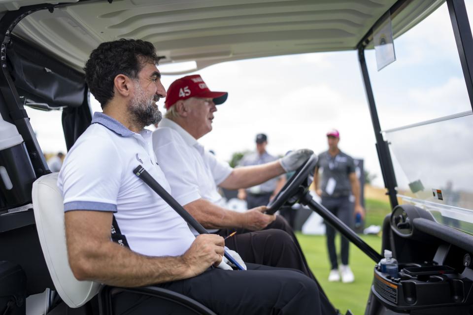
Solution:
[(217, 186), (233, 168), (204, 150), (189, 132), (163, 118), (153, 132), (153, 149), (169, 181), (172, 196), (181, 205), (200, 198), (216, 204), (222, 202)]

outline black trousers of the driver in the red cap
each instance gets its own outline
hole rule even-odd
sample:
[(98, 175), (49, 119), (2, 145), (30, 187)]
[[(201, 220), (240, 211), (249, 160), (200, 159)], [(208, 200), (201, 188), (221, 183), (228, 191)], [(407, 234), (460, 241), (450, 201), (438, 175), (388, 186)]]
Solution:
[(276, 216), (276, 220), (261, 231), (250, 231), (242, 228), (220, 229), (217, 234), (227, 237), (235, 230), (236, 234), (225, 240), (225, 245), (236, 251), (245, 263), (302, 271), (318, 286), (323, 314), (335, 314), (332, 313), (333, 307), (305, 260), (294, 231), (284, 218)]

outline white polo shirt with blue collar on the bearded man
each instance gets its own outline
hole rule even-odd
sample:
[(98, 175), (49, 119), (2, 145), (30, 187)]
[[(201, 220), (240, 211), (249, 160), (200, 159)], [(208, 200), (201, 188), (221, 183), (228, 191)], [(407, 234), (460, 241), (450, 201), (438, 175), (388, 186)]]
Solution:
[(114, 212), (131, 250), (149, 256), (182, 255), (195, 237), (187, 223), (134, 174), (140, 165), (171, 192), (152, 151), (151, 131), (137, 134), (95, 113), (59, 173), (64, 210)]

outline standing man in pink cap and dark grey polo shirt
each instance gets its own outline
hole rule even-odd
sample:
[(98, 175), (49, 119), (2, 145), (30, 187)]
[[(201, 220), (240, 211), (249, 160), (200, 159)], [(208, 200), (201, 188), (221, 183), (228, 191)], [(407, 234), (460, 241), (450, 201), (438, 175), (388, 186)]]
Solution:
[[(338, 149), (340, 134), (338, 130), (332, 129), (327, 132), (329, 150), (319, 155), (314, 171), (314, 185), (317, 194), (322, 197), (322, 205), (335, 214), (338, 219), (346, 225), (353, 223), (353, 209), (350, 195), (355, 197), (355, 214), (363, 218), (365, 210), (360, 202), (360, 183), (355, 173), (353, 158)], [(319, 169), (322, 169), (322, 182), (319, 188)], [(348, 266), (348, 240), (341, 236), (341, 266), (338, 268), (337, 250), (335, 248), (335, 229), (326, 224), (327, 248), (332, 270), (329, 281), (341, 281), (349, 283), (354, 281), (354, 276)]]

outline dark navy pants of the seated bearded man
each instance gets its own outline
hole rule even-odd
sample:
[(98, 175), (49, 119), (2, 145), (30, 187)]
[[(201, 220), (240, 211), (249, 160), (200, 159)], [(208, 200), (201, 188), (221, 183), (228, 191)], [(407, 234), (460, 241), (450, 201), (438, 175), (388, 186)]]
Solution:
[[(241, 314), (336, 314), (322, 305), (314, 281), (301, 272), (247, 264), (247, 271), (207, 269), (190, 279), (157, 284), (184, 294), (220, 315)], [(325, 310), (329, 310), (326, 313)], [(117, 315), (189, 314), (179, 306), (135, 293), (119, 293), (114, 298)]]

